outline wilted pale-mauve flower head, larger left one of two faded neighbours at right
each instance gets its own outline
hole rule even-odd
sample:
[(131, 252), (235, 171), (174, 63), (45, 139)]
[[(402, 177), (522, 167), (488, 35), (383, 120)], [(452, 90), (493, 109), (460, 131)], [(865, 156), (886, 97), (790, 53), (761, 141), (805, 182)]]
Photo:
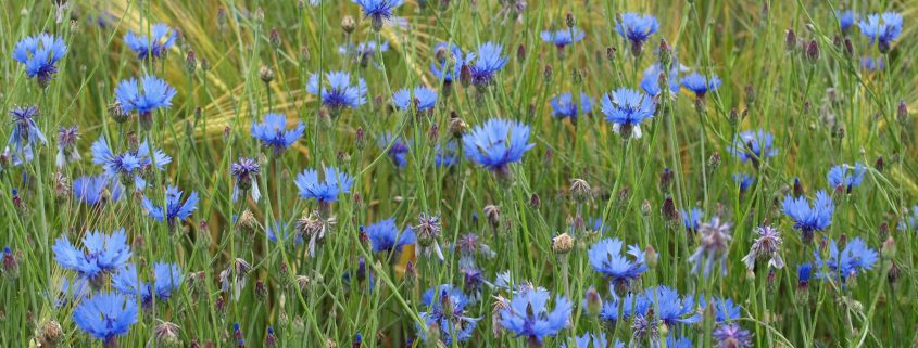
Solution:
[(692, 263), (692, 272), (697, 273), (704, 268), (704, 278), (710, 274), (715, 261), (720, 262), (720, 272), (727, 274), (727, 252), (730, 249), (730, 222), (720, 222), (719, 217), (714, 217), (709, 222), (701, 224), (699, 232), (701, 241), (695, 253), (689, 257)]

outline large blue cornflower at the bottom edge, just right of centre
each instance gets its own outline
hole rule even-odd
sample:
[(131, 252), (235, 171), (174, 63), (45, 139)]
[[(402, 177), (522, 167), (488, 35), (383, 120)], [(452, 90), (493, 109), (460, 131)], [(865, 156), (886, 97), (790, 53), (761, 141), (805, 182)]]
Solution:
[(523, 287), (510, 304), (500, 310), (501, 326), (524, 336), (529, 343), (541, 345), (549, 336), (567, 327), (573, 306), (564, 296), (555, 297), (554, 310), (549, 310), (551, 293), (542, 287)]

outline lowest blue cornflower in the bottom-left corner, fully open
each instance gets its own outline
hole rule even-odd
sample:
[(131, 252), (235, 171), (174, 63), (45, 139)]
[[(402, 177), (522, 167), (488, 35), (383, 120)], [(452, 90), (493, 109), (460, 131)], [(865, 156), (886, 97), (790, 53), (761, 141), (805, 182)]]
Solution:
[(137, 322), (137, 302), (114, 293), (98, 293), (84, 299), (73, 311), (73, 321), (79, 330), (104, 341), (105, 347), (117, 347), (117, 336), (124, 336)]

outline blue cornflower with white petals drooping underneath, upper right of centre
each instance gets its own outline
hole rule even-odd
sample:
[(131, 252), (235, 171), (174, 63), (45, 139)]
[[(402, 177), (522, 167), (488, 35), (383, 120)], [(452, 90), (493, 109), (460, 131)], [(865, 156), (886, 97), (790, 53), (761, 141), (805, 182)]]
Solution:
[(656, 111), (652, 98), (629, 88), (603, 94), (601, 104), (605, 120), (613, 124), (612, 130), (626, 139), (641, 138), (641, 123), (652, 118)]

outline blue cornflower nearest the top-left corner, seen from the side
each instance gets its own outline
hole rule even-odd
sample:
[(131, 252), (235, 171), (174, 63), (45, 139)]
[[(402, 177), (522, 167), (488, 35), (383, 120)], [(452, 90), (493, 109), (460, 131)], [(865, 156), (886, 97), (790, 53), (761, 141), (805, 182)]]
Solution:
[(51, 77), (58, 73), (55, 64), (66, 54), (64, 40), (50, 34), (26, 37), (13, 48), (13, 60), (25, 64), (26, 76), (37, 78), (42, 88), (51, 83)]

